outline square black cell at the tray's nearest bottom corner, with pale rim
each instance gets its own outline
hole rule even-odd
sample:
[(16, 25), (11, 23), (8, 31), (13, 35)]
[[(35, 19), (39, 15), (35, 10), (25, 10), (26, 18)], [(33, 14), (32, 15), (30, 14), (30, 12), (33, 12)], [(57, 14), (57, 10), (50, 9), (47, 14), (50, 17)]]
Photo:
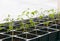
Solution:
[(23, 33), (21, 35), (17, 35), (20, 38), (25, 39), (25, 41), (39, 41), (39, 37), (30, 33)]

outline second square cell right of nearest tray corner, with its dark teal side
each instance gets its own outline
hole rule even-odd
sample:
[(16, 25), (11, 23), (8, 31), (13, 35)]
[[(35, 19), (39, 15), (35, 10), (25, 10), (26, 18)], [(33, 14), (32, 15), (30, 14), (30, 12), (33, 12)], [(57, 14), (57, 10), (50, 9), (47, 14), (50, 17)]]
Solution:
[(48, 41), (48, 32), (45, 31), (40, 31), (40, 30), (34, 30), (31, 31), (30, 33), (35, 34), (37, 36), (39, 36), (39, 41)]

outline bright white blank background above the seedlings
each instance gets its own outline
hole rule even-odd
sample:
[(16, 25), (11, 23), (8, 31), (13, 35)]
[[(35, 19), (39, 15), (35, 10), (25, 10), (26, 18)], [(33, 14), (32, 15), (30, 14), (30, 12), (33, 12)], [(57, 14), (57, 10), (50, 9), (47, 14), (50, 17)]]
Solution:
[(30, 9), (57, 9), (57, 0), (0, 0), (0, 22), (10, 14), (16, 18), (21, 11)]

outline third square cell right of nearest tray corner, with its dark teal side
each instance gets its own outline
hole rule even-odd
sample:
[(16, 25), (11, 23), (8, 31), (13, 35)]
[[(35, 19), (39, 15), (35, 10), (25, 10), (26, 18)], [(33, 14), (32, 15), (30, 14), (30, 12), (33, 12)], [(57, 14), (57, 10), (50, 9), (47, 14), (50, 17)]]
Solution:
[(40, 30), (51, 32), (50, 34), (48, 34), (49, 41), (56, 41), (57, 40), (57, 32), (58, 32), (57, 30), (50, 29), (50, 28), (42, 28)]

